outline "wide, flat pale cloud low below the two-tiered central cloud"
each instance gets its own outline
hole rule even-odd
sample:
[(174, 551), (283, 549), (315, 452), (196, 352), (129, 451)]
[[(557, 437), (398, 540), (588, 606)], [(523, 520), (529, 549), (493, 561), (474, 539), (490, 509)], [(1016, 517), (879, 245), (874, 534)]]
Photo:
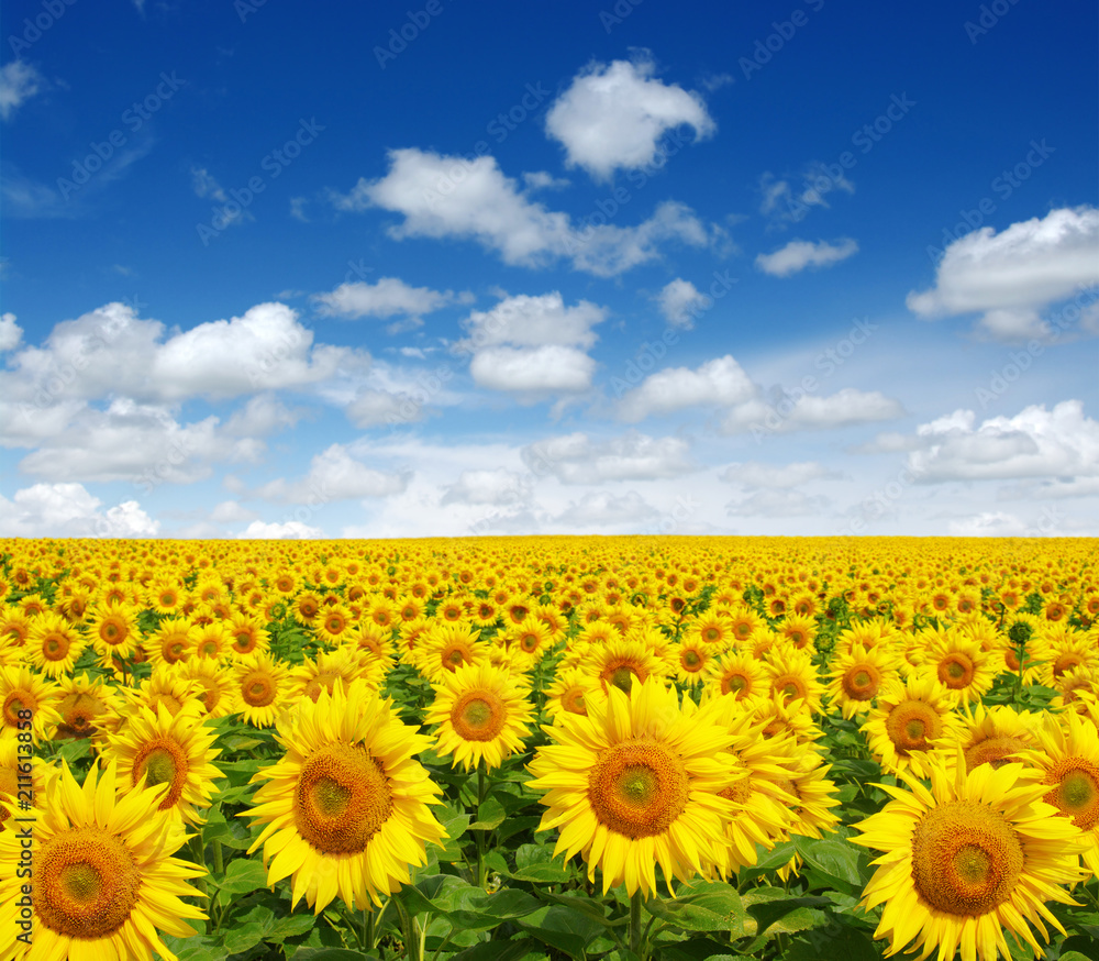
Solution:
[(534, 476), (553, 476), (562, 484), (654, 481), (697, 470), (687, 441), (636, 431), (603, 440), (578, 431), (531, 444), (521, 455)]

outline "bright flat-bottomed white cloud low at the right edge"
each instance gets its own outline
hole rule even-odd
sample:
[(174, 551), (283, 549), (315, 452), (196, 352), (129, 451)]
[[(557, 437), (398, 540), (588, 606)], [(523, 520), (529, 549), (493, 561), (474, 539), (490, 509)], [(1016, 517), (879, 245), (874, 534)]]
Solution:
[(1099, 476), (1099, 421), (1085, 415), (1079, 400), (976, 420), (974, 411), (959, 410), (920, 426), (919, 450), (908, 457), (918, 482)]

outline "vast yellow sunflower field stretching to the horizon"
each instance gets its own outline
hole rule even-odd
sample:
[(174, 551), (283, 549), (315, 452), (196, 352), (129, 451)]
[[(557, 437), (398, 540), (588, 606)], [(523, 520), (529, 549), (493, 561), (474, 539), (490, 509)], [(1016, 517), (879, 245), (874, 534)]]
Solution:
[(1095, 961), (1097, 560), (0, 540), (0, 961)]

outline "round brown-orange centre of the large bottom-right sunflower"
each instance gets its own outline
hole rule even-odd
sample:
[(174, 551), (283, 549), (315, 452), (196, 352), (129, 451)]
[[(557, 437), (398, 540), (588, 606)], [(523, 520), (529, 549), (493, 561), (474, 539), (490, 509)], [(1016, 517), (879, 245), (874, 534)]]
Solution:
[(932, 907), (980, 917), (1003, 904), (1022, 873), (1023, 848), (999, 811), (973, 800), (929, 810), (912, 832), (912, 880)]

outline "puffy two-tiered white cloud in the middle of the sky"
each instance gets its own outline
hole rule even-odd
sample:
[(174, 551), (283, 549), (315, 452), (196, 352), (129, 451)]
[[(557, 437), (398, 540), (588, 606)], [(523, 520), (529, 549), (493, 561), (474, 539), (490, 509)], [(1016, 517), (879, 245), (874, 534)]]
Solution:
[(559, 292), (520, 295), (464, 322), (467, 336), (454, 345), (469, 356), (474, 382), (490, 390), (533, 402), (591, 387), (596, 362), (587, 351), (596, 343), (592, 328), (607, 311), (587, 300), (566, 307)]

